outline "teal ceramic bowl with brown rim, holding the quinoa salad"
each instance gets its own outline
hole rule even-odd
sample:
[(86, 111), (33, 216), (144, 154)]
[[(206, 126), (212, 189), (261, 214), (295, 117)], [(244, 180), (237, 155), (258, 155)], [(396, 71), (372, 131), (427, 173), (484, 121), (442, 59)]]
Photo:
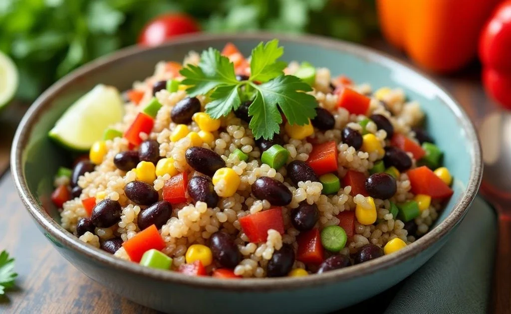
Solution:
[[(219, 280), (187, 277), (116, 259), (59, 226), (49, 202), (52, 177), (66, 154), (47, 137), (64, 110), (98, 83), (127, 89), (160, 60), (181, 61), (190, 50), (234, 42), (249, 54), (261, 40), (281, 38), (287, 61), (309, 61), (374, 88), (402, 87), (427, 114), (426, 127), (445, 152), (454, 195), (434, 228), (403, 250), (353, 267), (298, 278)], [(466, 214), (481, 179), (479, 142), (468, 116), (441, 87), (416, 70), (361, 46), (318, 37), (274, 34), (195, 35), (153, 48), (130, 47), (91, 62), (45, 91), (25, 115), (12, 149), (12, 172), (22, 201), (41, 232), (67, 260), (112, 292), (175, 313), (321, 313), (374, 296), (420, 268), (442, 247)]]

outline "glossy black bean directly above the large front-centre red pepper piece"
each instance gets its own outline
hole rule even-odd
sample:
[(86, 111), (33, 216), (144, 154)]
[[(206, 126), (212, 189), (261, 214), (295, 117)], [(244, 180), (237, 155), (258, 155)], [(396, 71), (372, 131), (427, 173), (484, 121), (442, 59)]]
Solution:
[(286, 206), (291, 203), (293, 194), (284, 183), (269, 177), (261, 177), (252, 184), (252, 194), (260, 199), (267, 200), (271, 205)]

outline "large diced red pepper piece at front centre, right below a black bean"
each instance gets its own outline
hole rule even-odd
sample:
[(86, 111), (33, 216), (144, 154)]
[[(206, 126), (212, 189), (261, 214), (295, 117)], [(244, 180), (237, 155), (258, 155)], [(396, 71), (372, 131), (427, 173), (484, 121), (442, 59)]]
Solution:
[(238, 220), (241, 229), (247, 235), (250, 242), (259, 243), (266, 241), (268, 230), (273, 229), (284, 234), (284, 219), (282, 208), (274, 207), (254, 214), (246, 215)]

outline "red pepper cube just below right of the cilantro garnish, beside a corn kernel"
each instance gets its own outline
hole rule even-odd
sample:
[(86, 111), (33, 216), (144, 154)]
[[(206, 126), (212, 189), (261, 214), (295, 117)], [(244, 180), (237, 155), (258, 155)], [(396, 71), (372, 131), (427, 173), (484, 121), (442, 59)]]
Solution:
[(335, 141), (317, 144), (312, 148), (307, 163), (312, 167), (316, 175), (321, 176), (337, 171), (337, 145)]

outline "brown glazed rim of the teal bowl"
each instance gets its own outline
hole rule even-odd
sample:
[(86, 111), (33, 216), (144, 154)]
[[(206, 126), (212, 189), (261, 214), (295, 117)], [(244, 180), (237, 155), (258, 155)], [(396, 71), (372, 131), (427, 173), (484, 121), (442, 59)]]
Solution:
[[(461, 126), (463, 131), (466, 132), (466, 136), (469, 140), (470, 157), (472, 162), (467, 190), (459, 197), (458, 201), (453, 206), (452, 212), (445, 218), (444, 221), (442, 221), (424, 236), (417, 239), (412, 244), (408, 245), (399, 252), (390, 255), (384, 255), (378, 259), (353, 265), (348, 268), (327, 272), (319, 276), (222, 280), (213, 277), (190, 277), (176, 272), (151, 269), (143, 267), (138, 263), (114, 257), (113, 255), (108, 254), (100, 249), (83, 243), (72, 233), (62, 228), (41, 206), (39, 206), (39, 203), (31, 194), (25, 180), (24, 170), (22, 167), (22, 154), (29, 140), (33, 125), (38, 119), (39, 113), (49, 107), (54, 95), (58, 94), (59, 91), (65, 89), (69, 84), (73, 84), (79, 78), (86, 76), (90, 70), (100, 69), (114, 60), (128, 58), (148, 50), (167, 49), (168, 47), (172, 47), (174, 45), (186, 45), (196, 42), (207, 43), (208, 41), (212, 40), (223, 40), (226, 42), (238, 39), (266, 41), (273, 38), (278, 38), (294, 43), (314, 45), (321, 49), (326, 48), (330, 50), (341, 51), (343, 53), (357, 55), (359, 57), (365, 58), (368, 62), (377, 62), (386, 67), (399, 68), (401, 71), (414, 73), (415, 75), (418, 75), (422, 80), (429, 81), (434, 86), (438, 97), (454, 113), (457, 123)], [(480, 143), (478, 135), (475, 131), (475, 127), (467, 113), (455, 101), (453, 96), (444, 88), (440, 87), (440, 85), (434, 79), (424, 74), (421, 70), (417, 70), (416, 68), (406, 64), (401, 60), (389, 56), (386, 53), (379, 52), (377, 50), (358, 44), (314, 35), (296, 36), (266, 32), (233, 34), (199, 33), (180, 36), (157, 47), (126, 47), (110, 55), (91, 61), (54, 83), (36, 99), (36, 101), (22, 118), (16, 130), (11, 151), (11, 171), (16, 189), (18, 190), (18, 194), (35, 221), (40, 226), (42, 226), (45, 231), (54, 236), (63, 246), (67, 247), (68, 249), (85, 255), (85, 257), (93, 259), (94, 261), (108, 267), (118, 268), (131, 273), (132, 275), (147, 276), (153, 280), (173, 282), (175, 284), (204, 289), (220, 288), (237, 292), (263, 292), (282, 289), (300, 289), (310, 286), (329, 284), (336, 281), (354, 279), (356, 277), (361, 277), (376, 273), (380, 270), (388, 269), (426, 250), (435, 244), (437, 240), (450, 232), (461, 221), (464, 214), (468, 210), (469, 205), (477, 194), (477, 190), (481, 182), (482, 160)]]

